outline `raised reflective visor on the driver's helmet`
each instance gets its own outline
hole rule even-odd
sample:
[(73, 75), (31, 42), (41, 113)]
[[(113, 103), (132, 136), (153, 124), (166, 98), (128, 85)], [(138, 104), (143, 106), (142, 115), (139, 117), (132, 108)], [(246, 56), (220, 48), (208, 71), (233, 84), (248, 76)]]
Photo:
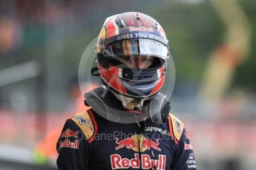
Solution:
[(151, 39), (130, 39), (116, 41), (108, 47), (108, 56), (122, 58), (123, 55), (148, 55), (168, 59), (168, 47)]

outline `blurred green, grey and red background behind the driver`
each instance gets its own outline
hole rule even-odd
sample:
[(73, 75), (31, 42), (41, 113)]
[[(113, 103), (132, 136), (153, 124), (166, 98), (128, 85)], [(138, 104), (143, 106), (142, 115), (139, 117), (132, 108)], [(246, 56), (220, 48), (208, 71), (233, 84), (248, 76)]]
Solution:
[[(56, 169), (65, 119), (83, 109), (77, 72), (105, 18), (137, 11), (171, 44), (172, 112), (197, 169), (256, 167), (256, 1), (0, 1), (0, 169)], [(89, 75), (89, 73), (88, 73)]]

